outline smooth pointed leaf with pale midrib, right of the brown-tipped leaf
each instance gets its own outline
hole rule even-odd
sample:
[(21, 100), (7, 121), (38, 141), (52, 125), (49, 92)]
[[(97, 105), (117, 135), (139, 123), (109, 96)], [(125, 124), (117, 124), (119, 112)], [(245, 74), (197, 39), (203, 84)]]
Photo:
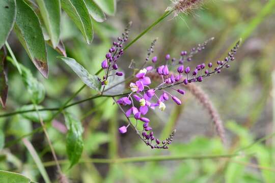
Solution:
[(45, 23), (53, 48), (56, 48), (60, 39), (60, 0), (36, 0), (36, 2), (39, 6), (41, 16)]

